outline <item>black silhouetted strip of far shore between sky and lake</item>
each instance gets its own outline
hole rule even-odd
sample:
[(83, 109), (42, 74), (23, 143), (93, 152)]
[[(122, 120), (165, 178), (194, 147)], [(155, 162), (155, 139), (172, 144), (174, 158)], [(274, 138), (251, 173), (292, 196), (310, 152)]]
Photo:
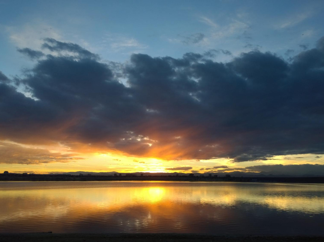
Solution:
[(69, 174), (0, 174), (0, 181), (205, 181), (324, 183), (324, 177), (208, 177), (208, 176), (98, 176)]

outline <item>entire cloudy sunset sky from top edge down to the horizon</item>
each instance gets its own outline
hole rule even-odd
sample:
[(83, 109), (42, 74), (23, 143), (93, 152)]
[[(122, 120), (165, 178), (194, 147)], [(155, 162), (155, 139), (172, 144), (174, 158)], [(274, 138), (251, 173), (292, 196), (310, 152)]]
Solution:
[(323, 10), (0, 0), (0, 171), (324, 175)]

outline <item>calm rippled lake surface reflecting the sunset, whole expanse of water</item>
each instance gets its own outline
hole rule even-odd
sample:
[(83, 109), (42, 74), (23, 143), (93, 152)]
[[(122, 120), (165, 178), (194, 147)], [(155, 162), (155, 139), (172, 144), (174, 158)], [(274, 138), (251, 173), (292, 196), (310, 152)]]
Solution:
[(324, 235), (324, 185), (0, 182), (0, 233)]

